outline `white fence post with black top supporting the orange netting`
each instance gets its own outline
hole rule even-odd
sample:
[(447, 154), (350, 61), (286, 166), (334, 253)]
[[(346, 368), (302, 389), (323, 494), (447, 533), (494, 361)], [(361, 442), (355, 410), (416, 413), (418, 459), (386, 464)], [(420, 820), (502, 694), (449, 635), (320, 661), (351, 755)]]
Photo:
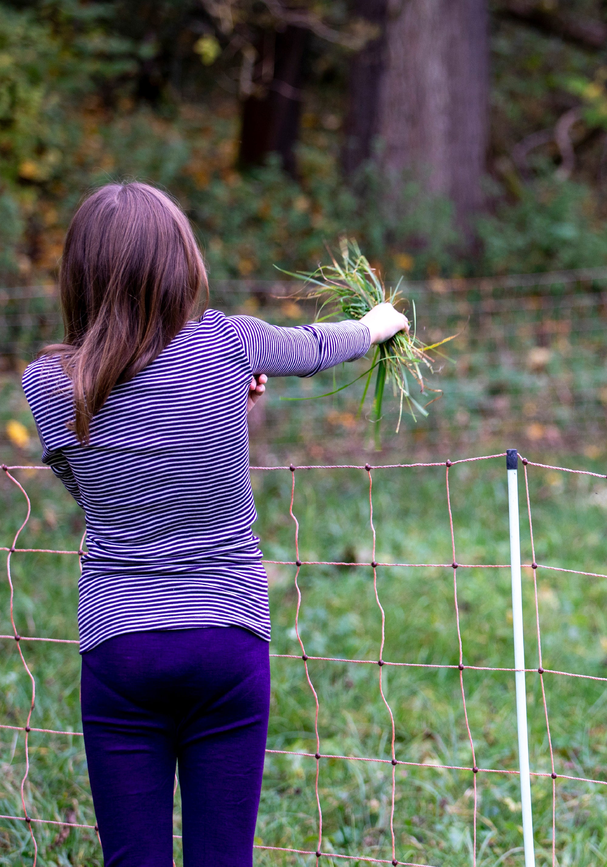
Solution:
[(508, 472), (508, 509), (510, 512), (510, 564), (512, 569), (512, 627), (514, 629), (514, 673), (516, 683), (516, 714), (519, 730), (520, 805), (523, 813), (523, 844), (525, 867), (535, 867), (533, 851), (533, 819), (531, 778), (529, 776), (529, 741), (527, 738), (527, 697), (525, 692), (525, 645), (523, 642), (523, 591), (520, 582), (519, 536), (519, 454), (515, 448), (506, 451)]

